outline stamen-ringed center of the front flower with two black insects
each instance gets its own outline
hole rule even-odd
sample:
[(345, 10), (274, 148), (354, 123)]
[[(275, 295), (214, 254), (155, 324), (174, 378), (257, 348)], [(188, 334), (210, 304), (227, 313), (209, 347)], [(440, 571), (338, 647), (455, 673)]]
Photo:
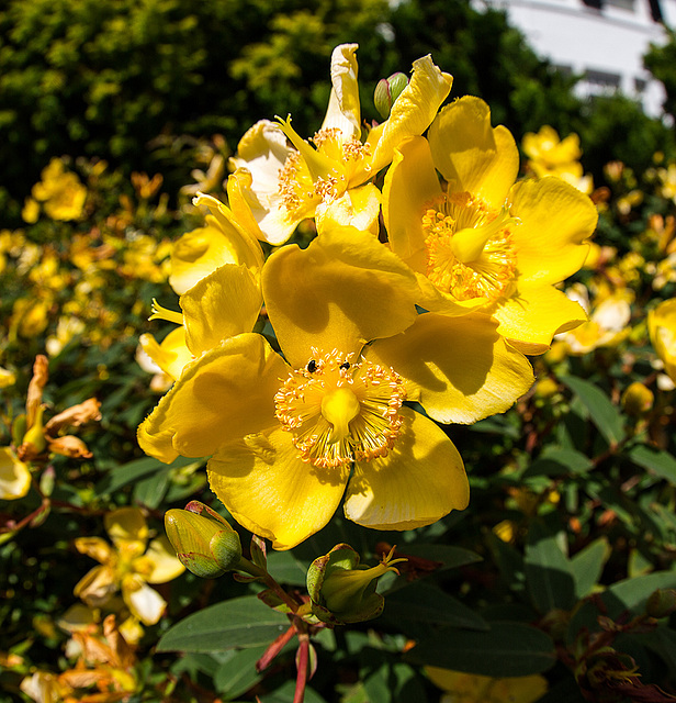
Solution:
[(291, 371), (274, 397), (275, 416), (303, 461), (338, 467), (387, 455), (401, 433), (406, 395), (392, 369), (334, 349)]

